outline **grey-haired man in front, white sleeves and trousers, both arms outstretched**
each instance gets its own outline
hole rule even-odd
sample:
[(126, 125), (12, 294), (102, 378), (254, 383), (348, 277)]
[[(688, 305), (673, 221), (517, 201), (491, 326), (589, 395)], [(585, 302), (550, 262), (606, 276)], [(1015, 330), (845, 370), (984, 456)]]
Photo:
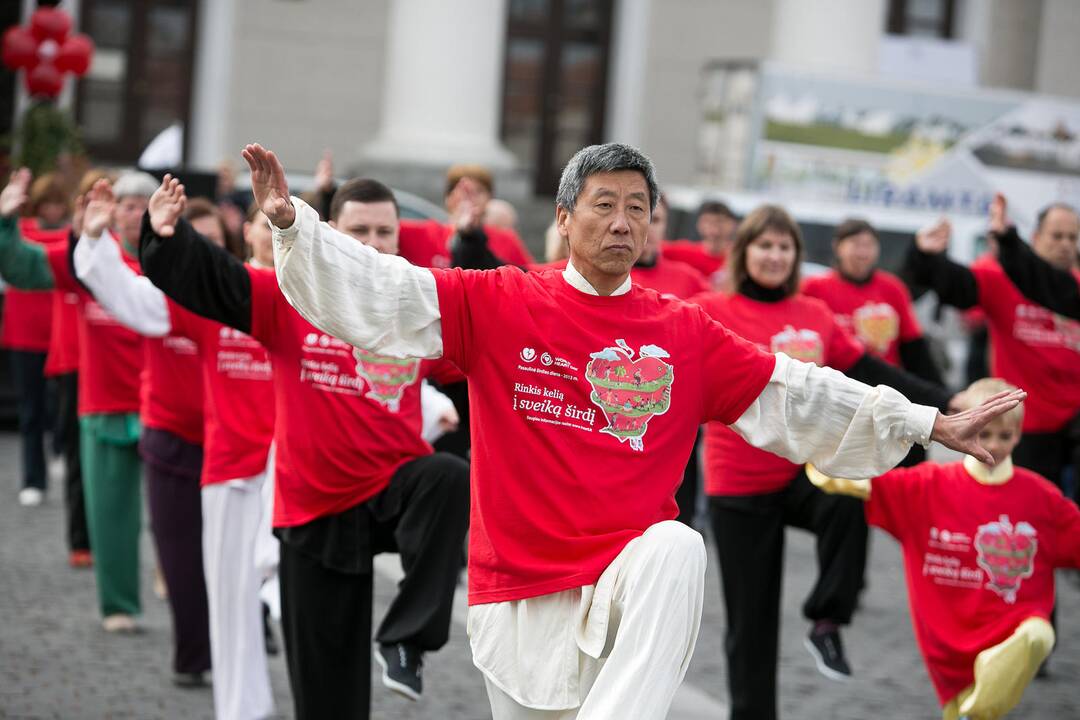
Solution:
[(355, 347), (446, 357), (470, 380), (469, 631), (497, 720), (665, 717), (701, 620), (704, 544), (673, 521), (701, 423), (850, 473), (931, 439), (988, 458), (978, 427), (1023, 395), (940, 416), (633, 286), (659, 193), (624, 145), (569, 161), (556, 218), (570, 261), (536, 273), (379, 255), (291, 199), (272, 152), (243, 154), (295, 308)]

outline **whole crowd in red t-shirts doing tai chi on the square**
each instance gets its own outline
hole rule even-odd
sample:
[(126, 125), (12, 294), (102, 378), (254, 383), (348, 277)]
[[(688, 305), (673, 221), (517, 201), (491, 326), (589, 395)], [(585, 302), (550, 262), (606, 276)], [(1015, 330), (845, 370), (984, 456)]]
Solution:
[[(19, 501), (45, 492), (55, 377), (69, 561), (104, 629), (137, 631), (145, 478), (174, 678), (212, 677), (216, 717), (273, 714), (279, 601), (296, 717), (367, 717), (373, 660), (418, 699), (467, 576), (495, 718), (662, 718), (715, 601), (707, 538), (730, 717), (777, 718), (788, 526), (816, 538), (826, 677), (853, 674), (869, 525), (902, 545), (947, 720), (1001, 717), (1045, 667), (1053, 571), (1080, 567), (1072, 208), (1028, 247), (999, 198), (999, 257), (970, 268), (947, 221), (913, 239), (904, 279), (989, 330), (995, 378), (957, 392), (865, 220), (802, 279), (783, 207), (710, 201), (672, 240), (648, 159), (591, 146), (538, 262), (484, 167), (450, 168), (440, 222), (329, 158), (303, 199), (271, 151), (243, 158), (252, 192), (210, 200), (140, 172), (69, 192), (19, 169), (0, 192)], [(926, 462), (932, 440), (964, 460)], [(405, 574), (373, 634), (387, 552)]]

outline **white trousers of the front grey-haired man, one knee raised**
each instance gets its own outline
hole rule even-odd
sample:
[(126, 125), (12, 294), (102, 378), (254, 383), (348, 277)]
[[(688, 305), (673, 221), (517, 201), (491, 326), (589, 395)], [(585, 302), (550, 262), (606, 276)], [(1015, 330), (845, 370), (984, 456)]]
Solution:
[[(474, 633), (485, 636), (473, 637), (474, 662), (482, 670), (499, 668), (484, 673), (491, 717), (665, 718), (693, 655), (704, 590), (705, 545), (701, 535), (679, 522), (665, 521), (627, 543), (595, 586), (498, 603), (501, 608), (474, 607), (480, 611)], [(564, 601), (567, 597), (570, 602)], [(575, 607), (573, 600), (579, 598), (581, 603)], [(553, 622), (568, 628), (566, 637), (576, 638), (571, 640), (577, 646), (576, 663), (559, 663), (559, 646), (564, 643), (557, 637), (529, 637), (527, 625), (551, 627)], [(602, 635), (597, 637), (597, 633)], [(513, 638), (510, 646), (521, 643), (521, 648), (505, 647), (507, 638)], [(528, 657), (530, 650), (550, 658), (548, 667), (541, 673), (516, 674), (510, 665), (516, 662), (515, 656)], [(558, 664), (563, 669), (555, 667)], [(538, 681), (550, 684), (550, 691), (510, 687), (517, 683), (513, 678), (528, 682), (530, 677), (543, 678)], [(514, 697), (554, 697), (558, 688), (575, 685), (580, 693), (580, 707), (576, 708), (536, 709)]]

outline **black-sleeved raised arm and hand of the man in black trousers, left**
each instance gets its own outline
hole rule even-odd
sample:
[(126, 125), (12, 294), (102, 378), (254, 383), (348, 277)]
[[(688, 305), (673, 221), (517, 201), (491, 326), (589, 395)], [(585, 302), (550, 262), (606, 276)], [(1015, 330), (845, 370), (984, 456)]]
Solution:
[[(163, 193), (160, 198), (158, 193)], [(243, 263), (179, 217), (184, 186), (165, 176), (143, 216), (143, 272), (191, 312), (243, 332), (252, 331), (252, 279)]]

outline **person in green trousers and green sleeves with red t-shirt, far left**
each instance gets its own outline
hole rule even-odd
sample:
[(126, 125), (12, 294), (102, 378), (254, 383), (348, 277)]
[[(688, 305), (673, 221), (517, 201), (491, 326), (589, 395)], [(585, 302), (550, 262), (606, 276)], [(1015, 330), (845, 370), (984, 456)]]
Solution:
[[(0, 192), (0, 275), (19, 289), (58, 288), (79, 295), (79, 427), (97, 594), (105, 629), (131, 631), (140, 612), (143, 340), (113, 321), (76, 281), (68, 257), (73, 241), (45, 248), (19, 236), (16, 216), (29, 182), (29, 171), (19, 169)], [(124, 175), (114, 187), (117, 235), (133, 266), (139, 222), (156, 188), (153, 178), (143, 173)]]

